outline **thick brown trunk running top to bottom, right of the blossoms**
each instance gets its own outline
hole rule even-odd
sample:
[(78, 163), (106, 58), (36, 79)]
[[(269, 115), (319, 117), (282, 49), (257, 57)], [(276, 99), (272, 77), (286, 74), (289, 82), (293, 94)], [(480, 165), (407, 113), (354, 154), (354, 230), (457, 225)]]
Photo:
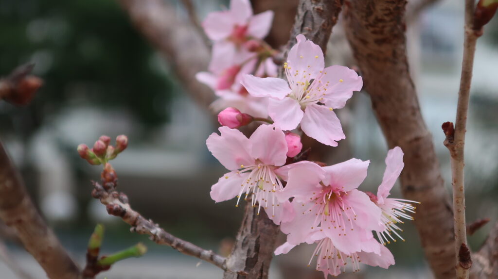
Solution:
[(432, 136), (420, 113), (406, 57), (405, 0), (347, 1), (348, 40), (389, 148), (405, 153), (403, 196), (415, 215), (427, 261), (438, 279), (455, 277), (453, 214)]

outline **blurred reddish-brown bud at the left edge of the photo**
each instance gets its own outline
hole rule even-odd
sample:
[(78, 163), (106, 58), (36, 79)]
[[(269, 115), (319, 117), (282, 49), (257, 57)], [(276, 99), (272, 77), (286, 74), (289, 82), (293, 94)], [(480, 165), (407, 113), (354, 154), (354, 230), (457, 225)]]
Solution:
[(25, 105), (34, 97), (34, 93), (41, 87), (41, 78), (31, 75), (34, 64), (17, 67), (7, 77), (0, 79), (0, 100), (3, 99), (14, 105)]

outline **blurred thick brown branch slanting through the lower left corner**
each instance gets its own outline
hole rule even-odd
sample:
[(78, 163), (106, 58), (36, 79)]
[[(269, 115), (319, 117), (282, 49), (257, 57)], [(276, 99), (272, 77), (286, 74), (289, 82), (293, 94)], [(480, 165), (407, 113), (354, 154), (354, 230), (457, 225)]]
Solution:
[(78, 279), (78, 266), (37, 212), (0, 142), (0, 218), (13, 227), (24, 248), (50, 279)]

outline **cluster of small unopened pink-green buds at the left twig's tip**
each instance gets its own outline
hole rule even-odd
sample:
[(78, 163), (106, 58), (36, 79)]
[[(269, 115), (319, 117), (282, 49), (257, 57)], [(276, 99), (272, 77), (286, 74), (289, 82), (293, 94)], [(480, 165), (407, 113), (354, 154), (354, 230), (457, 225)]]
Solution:
[(101, 136), (95, 141), (94, 146), (90, 149), (86, 144), (78, 145), (78, 153), (80, 157), (87, 160), (92, 165), (105, 164), (123, 152), (128, 146), (128, 137), (120, 135), (116, 138), (116, 147), (110, 145), (111, 138)]

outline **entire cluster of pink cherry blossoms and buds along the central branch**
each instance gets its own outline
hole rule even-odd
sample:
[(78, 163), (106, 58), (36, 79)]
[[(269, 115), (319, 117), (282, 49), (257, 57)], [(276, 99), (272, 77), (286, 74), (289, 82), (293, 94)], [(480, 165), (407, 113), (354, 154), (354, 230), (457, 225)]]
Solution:
[[(394, 258), (385, 245), (404, 241), (399, 224), (415, 213), (416, 202), (388, 198), (404, 167), (403, 152), (400, 147), (388, 151), (376, 194), (359, 189), (368, 160), (331, 166), (303, 160), (301, 134), (330, 146), (345, 139), (334, 110), (361, 90), (363, 80), (347, 67), (325, 67), (321, 48), (304, 35), (296, 37), (283, 65), (286, 79), (259, 70), (266, 64), (275, 68), (272, 51), (261, 41), (271, 18), (268, 11), (252, 15), (248, 0), (232, 0), (230, 10), (204, 21), (216, 42), (210, 73), (198, 78), (212, 85), (223, 109), (220, 134), (210, 135), (206, 144), (229, 170), (212, 186), (211, 198), (217, 203), (236, 198), (236, 207), (247, 201), (258, 214), (263, 209), (287, 235), (276, 255), (302, 243), (316, 245), (316, 269), (325, 278), (345, 272), (348, 263), (354, 271), (361, 263), (388, 268)], [(249, 42), (264, 50), (251, 52)], [(217, 61), (220, 57), (224, 59)], [(243, 70), (250, 61), (252, 70)], [(234, 102), (235, 95), (240, 102)], [(265, 123), (249, 138), (238, 130), (255, 121)]]

